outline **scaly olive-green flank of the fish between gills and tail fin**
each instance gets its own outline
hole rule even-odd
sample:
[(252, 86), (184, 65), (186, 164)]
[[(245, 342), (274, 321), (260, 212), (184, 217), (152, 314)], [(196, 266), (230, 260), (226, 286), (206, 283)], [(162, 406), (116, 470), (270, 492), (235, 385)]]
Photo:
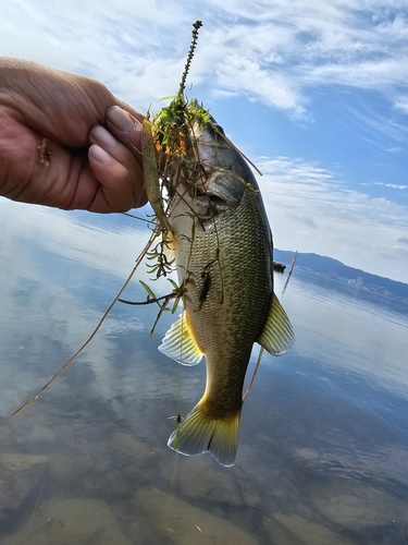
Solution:
[[(272, 296), (265, 233), (259, 226), (243, 229), (245, 223), (249, 226), (247, 220), (255, 217), (255, 201), (258, 198), (259, 194), (246, 192), (239, 205), (243, 222), (235, 221), (235, 210), (231, 209), (207, 231), (196, 231), (191, 245), (189, 269), (200, 281), (196, 281), (196, 289), (189, 293), (191, 302), (186, 301), (186, 310), (197, 343), (205, 347), (208, 370), (206, 393), (209, 401), (213, 400), (212, 413), (217, 416), (227, 413), (231, 404), (235, 408), (242, 405), (249, 355), (262, 331)], [(200, 264), (206, 256), (210, 261), (217, 244), (220, 264), (211, 266), (211, 288), (198, 311), (203, 284)], [(180, 244), (181, 254), (187, 257), (189, 251), (188, 243)], [(180, 262), (185, 263), (186, 259), (180, 257)], [(247, 276), (250, 282), (243, 281)], [(202, 323), (208, 324), (207, 327), (201, 327)]]

